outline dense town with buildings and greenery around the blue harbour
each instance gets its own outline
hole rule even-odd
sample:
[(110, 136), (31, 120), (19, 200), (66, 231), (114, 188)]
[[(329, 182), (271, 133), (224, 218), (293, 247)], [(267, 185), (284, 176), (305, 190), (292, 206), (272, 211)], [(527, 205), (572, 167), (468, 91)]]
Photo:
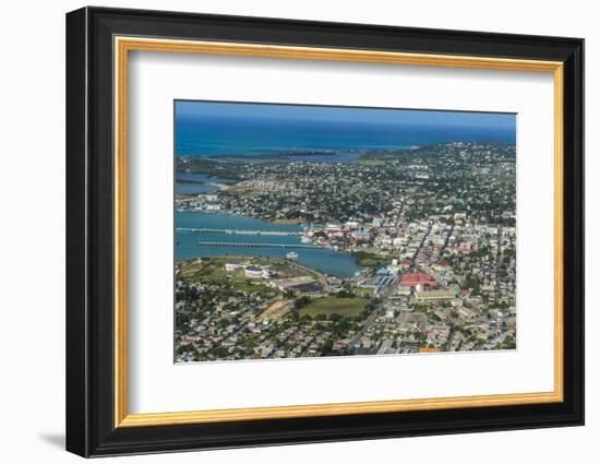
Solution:
[[(180, 172), (229, 179), (177, 194), (178, 212), (295, 228), (221, 230), (239, 237), (235, 253), (228, 242), (221, 255), (176, 261), (176, 361), (516, 348), (514, 146), (365, 150), (344, 163), (296, 155), (177, 158)], [(188, 230), (199, 250), (219, 245), (202, 241), (207, 230)], [(252, 234), (285, 255), (244, 253), (259, 246), (244, 241)], [(319, 250), (351, 258), (356, 272), (302, 262)]]

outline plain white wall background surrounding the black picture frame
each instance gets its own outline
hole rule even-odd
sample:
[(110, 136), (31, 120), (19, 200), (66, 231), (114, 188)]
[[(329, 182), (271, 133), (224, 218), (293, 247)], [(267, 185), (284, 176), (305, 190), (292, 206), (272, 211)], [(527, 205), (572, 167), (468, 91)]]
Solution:
[[(120, 459), (119, 462), (487, 464), (593, 462), (600, 323), (591, 288), (600, 221), (600, 29), (590, 1), (139, 0), (105, 5), (585, 37), (587, 58), (587, 426)], [(64, 428), (64, 13), (84, 3), (10, 2), (0, 16), (0, 460), (76, 462)]]

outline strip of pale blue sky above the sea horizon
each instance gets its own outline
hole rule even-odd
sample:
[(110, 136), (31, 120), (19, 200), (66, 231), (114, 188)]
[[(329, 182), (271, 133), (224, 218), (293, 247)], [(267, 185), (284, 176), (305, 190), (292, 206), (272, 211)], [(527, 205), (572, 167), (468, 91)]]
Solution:
[(274, 105), (215, 102), (176, 102), (176, 117), (193, 115), (211, 118), (260, 118), (305, 121), (364, 122), (382, 124), (431, 124), (441, 127), (514, 128), (515, 114), (435, 111)]

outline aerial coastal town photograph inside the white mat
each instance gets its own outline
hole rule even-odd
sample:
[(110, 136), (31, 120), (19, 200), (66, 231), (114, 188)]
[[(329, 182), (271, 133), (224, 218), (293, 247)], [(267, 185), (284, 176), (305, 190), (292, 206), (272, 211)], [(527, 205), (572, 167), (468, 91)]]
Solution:
[(175, 361), (517, 349), (517, 116), (175, 100)]

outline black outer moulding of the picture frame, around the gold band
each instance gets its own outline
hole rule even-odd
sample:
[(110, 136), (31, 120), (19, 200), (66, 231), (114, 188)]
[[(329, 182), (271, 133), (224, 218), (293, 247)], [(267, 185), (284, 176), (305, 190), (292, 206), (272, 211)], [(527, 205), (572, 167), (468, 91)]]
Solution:
[[(112, 71), (116, 35), (562, 61), (564, 402), (115, 428)], [(69, 13), (67, 449), (84, 456), (99, 456), (583, 425), (583, 39), (103, 8)], [(552, 283), (547, 283), (543, 290), (553, 292)]]

